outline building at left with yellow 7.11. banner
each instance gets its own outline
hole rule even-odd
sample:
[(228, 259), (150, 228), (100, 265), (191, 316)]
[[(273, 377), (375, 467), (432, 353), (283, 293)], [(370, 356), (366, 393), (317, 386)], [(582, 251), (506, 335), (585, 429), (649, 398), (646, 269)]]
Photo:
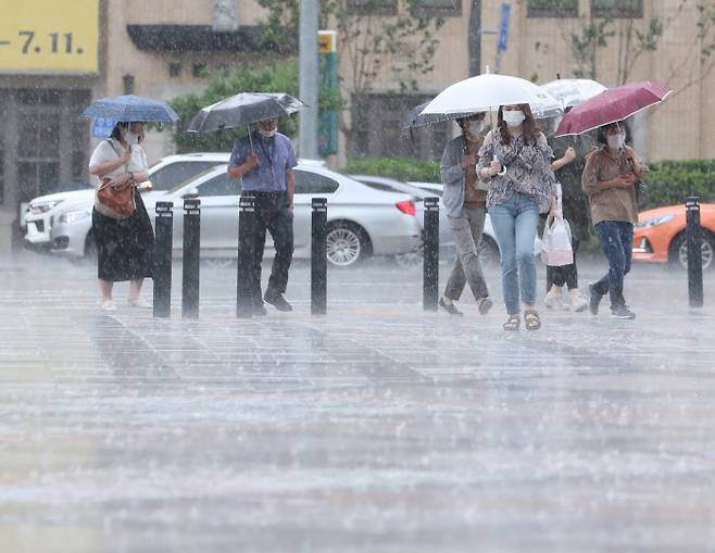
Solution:
[[(254, 0), (0, 0), (0, 252), (22, 244), (24, 204), (87, 181), (95, 99), (171, 100), (263, 55)], [(173, 153), (150, 133), (150, 163)]]

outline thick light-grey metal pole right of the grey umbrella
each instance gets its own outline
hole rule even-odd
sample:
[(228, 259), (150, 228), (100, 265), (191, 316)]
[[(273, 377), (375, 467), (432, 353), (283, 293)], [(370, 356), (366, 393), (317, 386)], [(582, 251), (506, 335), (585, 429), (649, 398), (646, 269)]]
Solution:
[(300, 99), (308, 108), (300, 112), (300, 156), (317, 158), (318, 100), (318, 0), (300, 1)]

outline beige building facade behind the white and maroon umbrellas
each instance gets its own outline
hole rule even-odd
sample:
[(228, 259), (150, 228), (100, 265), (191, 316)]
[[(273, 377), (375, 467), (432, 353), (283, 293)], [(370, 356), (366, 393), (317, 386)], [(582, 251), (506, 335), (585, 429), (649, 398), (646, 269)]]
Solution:
[[(373, 79), (369, 93), (355, 98), (347, 90), (346, 97), (351, 102), (343, 126), (350, 131), (342, 134), (343, 159), (405, 151), (434, 156), (443, 136), (453, 128), (437, 128), (435, 136), (422, 131), (416, 143), (406, 144), (404, 135), (397, 140), (394, 133), (409, 108), (469, 76), (469, 12), (474, 2), (352, 1), (362, 4), (356, 17), (369, 21), (373, 26), (394, 20), (396, 14), (414, 11), (415, 5), (432, 10), (444, 23), (438, 32), (434, 71), (405, 75), (400, 71), (400, 63), (396, 72), (396, 64), (387, 60)], [(715, 135), (710, 131), (715, 123), (715, 97), (710, 93), (715, 86), (715, 71), (712, 71), (712, 56), (701, 56), (703, 50), (715, 46), (713, 23), (705, 17), (715, 9), (712, 0), (481, 0), (479, 3), (481, 72), (488, 65), (491, 71), (499, 65), (502, 74), (539, 84), (557, 76), (595, 78), (609, 87), (624, 81), (658, 80), (670, 86), (674, 93), (631, 122), (639, 151), (649, 160), (715, 156)], [(506, 50), (498, 53), (503, 4), (510, 8)], [(705, 7), (704, 13), (700, 4)], [(648, 37), (653, 24), (661, 29), (654, 48), (641, 48), (638, 34)], [(584, 37), (599, 28), (605, 45), (591, 48)], [(342, 56), (343, 84), (350, 81), (353, 70), (349, 56)], [(416, 90), (403, 90), (401, 81), (405, 77), (416, 80)]]

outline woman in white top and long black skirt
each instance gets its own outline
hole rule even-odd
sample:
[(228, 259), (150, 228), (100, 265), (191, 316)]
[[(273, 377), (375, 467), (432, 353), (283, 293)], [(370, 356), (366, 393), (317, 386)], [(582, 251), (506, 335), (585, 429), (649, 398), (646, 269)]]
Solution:
[(152, 276), (154, 232), (149, 214), (136, 186), (149, 178), (147, 154), (140, 142), (142, 123), (117, 123), (108, 140), (102, 140), (89, 161), (89, 173), (99, 186), (134, 188), (135, 209), (130, 216), (117, 218), (95, 197), (92, 237), (97, 244), (97, 267), (102, 291), (102, 310), (115, 311), (114, 282), (129, 280), (129, 305), (149, 307), (141, 296), (141, 285)]

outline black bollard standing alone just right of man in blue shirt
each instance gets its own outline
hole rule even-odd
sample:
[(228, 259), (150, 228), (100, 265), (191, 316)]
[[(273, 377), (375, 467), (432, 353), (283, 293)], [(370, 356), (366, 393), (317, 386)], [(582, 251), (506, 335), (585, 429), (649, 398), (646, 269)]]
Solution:
[(313, 198), (311, 218), (311, 314), (328, 309), (328, 206), (327, 199)]

